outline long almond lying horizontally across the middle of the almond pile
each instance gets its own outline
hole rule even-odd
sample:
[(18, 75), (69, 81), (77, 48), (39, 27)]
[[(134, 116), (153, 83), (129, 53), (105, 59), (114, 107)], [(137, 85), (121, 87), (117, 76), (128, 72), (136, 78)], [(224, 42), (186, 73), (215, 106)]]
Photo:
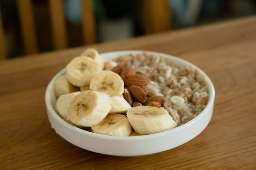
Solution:
[(124, 79), (124, 84), (126, 86), (143, 86), (149, 84), (149, 80), (143, 75), (130, 75)]

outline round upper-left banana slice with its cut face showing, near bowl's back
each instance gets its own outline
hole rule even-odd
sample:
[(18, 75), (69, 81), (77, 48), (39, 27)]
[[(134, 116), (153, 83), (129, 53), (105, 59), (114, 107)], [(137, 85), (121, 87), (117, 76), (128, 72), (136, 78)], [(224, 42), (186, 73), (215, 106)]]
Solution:
[(85, 56), (75, 57), (66, 66), (66, 77), (74, 86), (89, 85), (92, 77), (101, 71), (99, 63)]

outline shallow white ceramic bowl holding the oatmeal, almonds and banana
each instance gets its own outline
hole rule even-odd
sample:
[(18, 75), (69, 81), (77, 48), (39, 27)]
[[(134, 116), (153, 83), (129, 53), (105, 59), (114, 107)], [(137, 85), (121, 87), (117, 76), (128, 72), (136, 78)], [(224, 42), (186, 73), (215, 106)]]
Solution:
[[(128, 55), (130, 53), (142, 53), (143, 51), (115, 51), (102, 53), (101, 57), (104, 61), (112, 60), (120, 55)], [(213, 102), (215, 91), (213, 84), (209, 77), (197, 66), (182, 60), (180, 58), (156, 52), (148, 52), (148, 54), (155, 54), (165, 58), (169, 58), (174, 64), (183, 64), (194, 69), (198, 69), (201, 75), (205, 78), (208, 88), (208, 104), (206, 108), (194, 119), (164, 132), (159, 132), (151, 135), (131, 136), (131, 137), (115, 137), (108, 135), (100, 135), (86, 130), (72, 126), (59, 117), (52, 106), (56, 103), (56, 96), (54, 94), (54, 81), (60, 75), (65, 73), (65, 68), (57, 73), (49, 85), (45, 93), (45, 102), (47, 108), (47, 115), (52, 125), (52, 128), (63, 139), (69, 141), (71, 144), (106, 155), (133, 157), (150, 155), (157, 152), (162, 152), (180, 146), (194, 137), (196, 137), (209, 124), (213, 113)]]

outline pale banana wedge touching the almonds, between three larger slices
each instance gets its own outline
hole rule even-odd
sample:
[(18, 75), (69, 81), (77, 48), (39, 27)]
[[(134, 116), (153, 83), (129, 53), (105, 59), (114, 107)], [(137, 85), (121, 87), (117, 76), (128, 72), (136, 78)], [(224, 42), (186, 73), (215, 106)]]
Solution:
[(132, 108), (123, 96), (113, 96), (110, 99), (112, 108), (108, 114), (126, 113)]

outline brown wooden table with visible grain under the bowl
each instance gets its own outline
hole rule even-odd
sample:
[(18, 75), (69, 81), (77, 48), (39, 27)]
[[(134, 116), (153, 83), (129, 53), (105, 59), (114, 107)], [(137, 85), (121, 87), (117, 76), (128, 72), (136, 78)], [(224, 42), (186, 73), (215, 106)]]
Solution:
[(48, 82), (89, 46), (0, 62), (0, 169), (256, 169), (256, 16), (119, 42), (100, 53), (150, 50), (181, 57), (211, 78), (216, 99), (205, 130), (177, 148), (114, 157), (78, 148), (51, 128)]

